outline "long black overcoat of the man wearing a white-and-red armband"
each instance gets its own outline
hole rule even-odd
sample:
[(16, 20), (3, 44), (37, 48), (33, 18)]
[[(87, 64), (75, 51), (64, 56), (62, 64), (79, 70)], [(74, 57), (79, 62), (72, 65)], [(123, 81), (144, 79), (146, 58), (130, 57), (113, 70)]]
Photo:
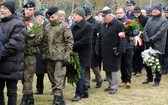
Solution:
[[(125, 47), (120, 47), (121, 41), (118, 33), (124, 32), (123, 24), (116, 18), (111, 23), (101, 25), (100, 39), (103, 58), (103, 69), (105, 71), (116, 72), (120, 69), (121, 53)], [(117, 50), (116, 50), (117, 49)], [(120, 54), (116, 54), (116, 53)]]

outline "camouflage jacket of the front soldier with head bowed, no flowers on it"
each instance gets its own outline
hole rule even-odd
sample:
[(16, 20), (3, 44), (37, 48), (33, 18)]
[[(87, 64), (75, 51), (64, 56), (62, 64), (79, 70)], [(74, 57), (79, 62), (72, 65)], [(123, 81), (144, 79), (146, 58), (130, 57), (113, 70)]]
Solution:
[(59, 20), (50, 22), (50, 25), (45, 27), (46, 43), (46, 58), (49, 60), (69, 60), (69, 55), (72, 52), (73, 36), (68, 25)]

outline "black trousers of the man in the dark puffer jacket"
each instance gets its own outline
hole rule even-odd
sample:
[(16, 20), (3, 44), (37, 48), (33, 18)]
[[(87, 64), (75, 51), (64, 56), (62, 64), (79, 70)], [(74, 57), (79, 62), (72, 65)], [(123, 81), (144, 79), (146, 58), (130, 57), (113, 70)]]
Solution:
[(17, 105), (17, 80), (0, 79), (0, 105), (5, 105), (4, 88), (7, 87), (8, 105)]

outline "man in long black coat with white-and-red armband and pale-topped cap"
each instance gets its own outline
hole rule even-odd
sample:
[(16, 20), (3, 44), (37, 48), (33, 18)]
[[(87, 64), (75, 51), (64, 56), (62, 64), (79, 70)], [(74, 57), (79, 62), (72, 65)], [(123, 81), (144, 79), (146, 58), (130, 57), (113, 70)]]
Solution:
[(101, 44), (103, 70), (109, 82), (109, 86), (105, 91), (109, 91), (110, 94), (116, 94), (118, 89), (118, 71), (120, 69), (121, 53), (124, 52), (123, 46), (125, 46), (125, 44), (121, 43), (121, 40), (125, 39), (124, 26), (114, 17), (111, 8), (108, 6), (103, 8), (102, 13), (104, 23), (101, 25), (97, 43)]

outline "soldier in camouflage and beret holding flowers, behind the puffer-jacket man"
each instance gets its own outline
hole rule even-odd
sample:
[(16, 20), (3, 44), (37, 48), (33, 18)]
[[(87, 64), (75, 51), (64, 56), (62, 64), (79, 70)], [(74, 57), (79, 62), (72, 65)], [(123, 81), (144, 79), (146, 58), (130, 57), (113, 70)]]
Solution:
[[(25, 9), (24, 21), (27, 27), (27, 34), (21, 105), (34, 105), (32, 83), (36, 64), (35, 55), (38, 52), (37, 46), (40, 44), (42, 38), (42, 25), (35, 21), (33, 17), (35, 12), (35, 3), (33, 1), (27, 2), (23, 7)], [(32, 32), (32, 30), (36, 31)]]

